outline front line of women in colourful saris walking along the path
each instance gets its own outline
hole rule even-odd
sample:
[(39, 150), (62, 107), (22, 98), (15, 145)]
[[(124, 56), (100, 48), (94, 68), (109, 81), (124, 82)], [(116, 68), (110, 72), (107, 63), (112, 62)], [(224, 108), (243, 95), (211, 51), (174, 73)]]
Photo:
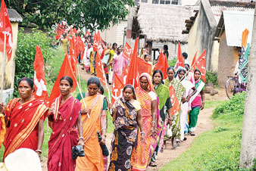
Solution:
[[(169, 67), (167, 75), (164, 80), (161, 70), (155, 70), (152, 77), (142, 73), (139, 87), (126, 85), (123, 97), (114, 104), (108, 104), (102, 95), (100, 80), (91, 77), (83, 99), (86, 106), (83, 100), (70, 95), (73, 80), (64, 76), (59, 82), (61, 95), (55, 98), (50, 110), (43, 101), (33, 98), (33, 80), (20, 79), (20, 98), (12, 99), (6, 107), (0, 104), (7, 128), (4, 160), (19, 148), (30, 148), (40, 157), (43, 123), (48, 117), (52, 128), (48, 141), (49, 171), (145, 170), (148, 166), (157, 166), (158, 152), (164, 151), (166, 141), (171, 140), (172, 148), (176, 148), (186, 140), (184, 134), (195, 135), (198, 113), (204, 108), (204, 82), (199, 70), (190, 74), (180, 67), (175, 73), (173, 67)], [(170, 110), (172, 101), (168, 88), (171, 85), (181, 107), (176, 113)], [(108, 107), (112, 109), (114, 123), (109, 166), (108, 157), (101, 151), (107, 136)], [(172, 135), (167, 135), (165, 129), (171, 129)], [(97, 132), (101, 133), (100, 142)], [(81, 145), (86, 156), (74, 160), (71, 154), (74, 145)]]

